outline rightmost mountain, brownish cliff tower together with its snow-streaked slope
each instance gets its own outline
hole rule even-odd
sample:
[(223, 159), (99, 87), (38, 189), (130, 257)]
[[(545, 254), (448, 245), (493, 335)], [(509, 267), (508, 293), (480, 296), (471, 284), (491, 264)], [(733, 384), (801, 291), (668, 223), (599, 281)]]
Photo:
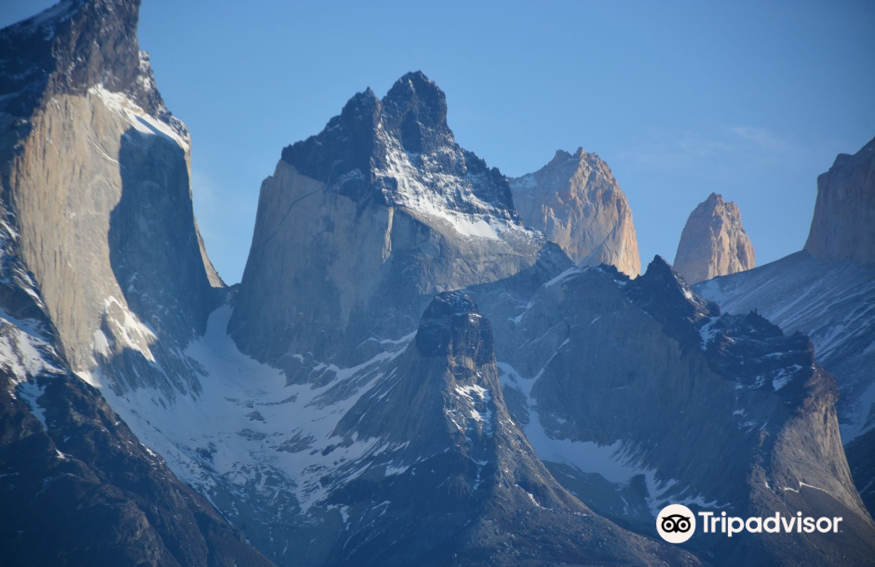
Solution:
[(699, 284), (732, 313), (756, 309), (814, 342), (835, 375), (838, 419), (851, 474), (875, 512), (875, 140), (842, 154), (817, 178), (805, 249), (749, 272)]

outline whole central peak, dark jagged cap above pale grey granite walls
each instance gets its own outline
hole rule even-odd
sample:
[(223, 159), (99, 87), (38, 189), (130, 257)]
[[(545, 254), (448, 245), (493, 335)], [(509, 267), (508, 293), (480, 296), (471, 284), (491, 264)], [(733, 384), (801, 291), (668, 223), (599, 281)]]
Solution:
[[(434, 294), (497, 280), (546, 255), (507, 181), (453, 141), (444, 93), (409, 73), (367, 90), (319, 135), (283, 149), (262, 183), (230, 333), (290, 380), (360, 363), (416, 330)], [(318, 371), (318, 370), (317, 370)]]

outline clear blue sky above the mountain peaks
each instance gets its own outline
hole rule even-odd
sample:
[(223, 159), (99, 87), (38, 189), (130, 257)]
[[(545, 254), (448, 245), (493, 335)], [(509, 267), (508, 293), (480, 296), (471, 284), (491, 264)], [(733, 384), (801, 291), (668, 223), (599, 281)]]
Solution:
[[(6, 0), (0, 24), (51, 2)], [(674, 259), (711, 191), (757, 264), (802, 248), (816, 177), (875, 137), (872, 2), (143, 0), (139, 38), (193, 137), (195, 214), (240, 280), (262, 179), (366, 86), (420, 69), (457, 141), (507, 175), (583, 146), (632, 206), (641, 260)]]

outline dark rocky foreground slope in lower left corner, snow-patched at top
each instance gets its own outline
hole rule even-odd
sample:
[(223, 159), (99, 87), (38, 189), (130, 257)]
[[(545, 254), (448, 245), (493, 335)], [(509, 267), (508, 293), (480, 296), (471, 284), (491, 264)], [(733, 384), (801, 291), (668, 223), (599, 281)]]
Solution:
[(0, 315), (4, 564), (267, 567), (66, 368), (45, 330)]

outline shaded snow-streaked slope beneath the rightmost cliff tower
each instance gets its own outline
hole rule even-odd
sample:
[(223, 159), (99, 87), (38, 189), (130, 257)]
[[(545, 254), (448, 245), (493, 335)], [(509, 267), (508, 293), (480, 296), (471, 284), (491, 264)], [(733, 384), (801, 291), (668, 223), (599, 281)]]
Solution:
[(817, 363), (835, 377), (837, 413), (851, 474), (875, 511), (875, 266), (819, 261), (796, 252), (748, 272), (698, 284), (698, 294), (728, 313), (760, 315), (785, 332), (805, 333)]

